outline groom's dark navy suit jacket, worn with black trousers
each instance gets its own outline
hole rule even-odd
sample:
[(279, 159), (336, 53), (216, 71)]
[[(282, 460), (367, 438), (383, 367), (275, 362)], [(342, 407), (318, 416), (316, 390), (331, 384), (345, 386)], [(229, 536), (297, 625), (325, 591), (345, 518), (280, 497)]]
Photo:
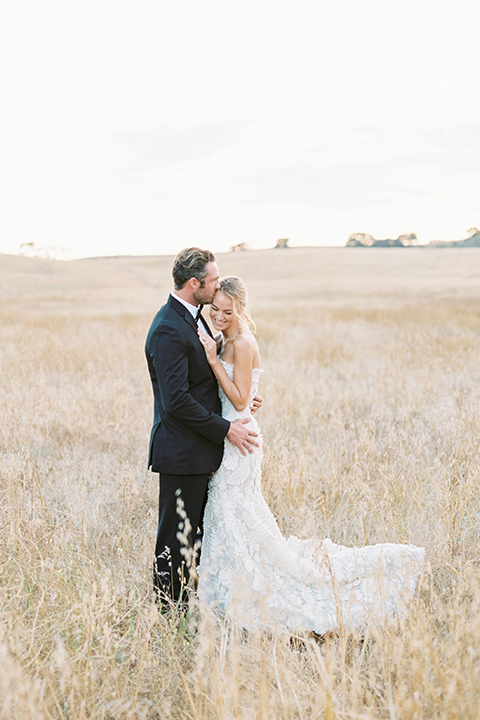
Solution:
[(145, 353), (154, 396), (149, 467), (169, 475), (214, 472), (230, 423), (220, 415), (217, 381), (195, 320), (172, 295), (152, 322)]

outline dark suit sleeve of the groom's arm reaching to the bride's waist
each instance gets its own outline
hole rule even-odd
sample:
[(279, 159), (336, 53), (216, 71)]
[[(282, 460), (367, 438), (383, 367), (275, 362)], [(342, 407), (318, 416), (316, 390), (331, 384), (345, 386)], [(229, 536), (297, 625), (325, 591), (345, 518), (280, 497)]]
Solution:
[(188, 347), (181, 333), (162, 325), (151, 338), (150, 353), (164, 411), (215, 445), (221, 445), (230, 422), (207, 410), (190, 394)]

